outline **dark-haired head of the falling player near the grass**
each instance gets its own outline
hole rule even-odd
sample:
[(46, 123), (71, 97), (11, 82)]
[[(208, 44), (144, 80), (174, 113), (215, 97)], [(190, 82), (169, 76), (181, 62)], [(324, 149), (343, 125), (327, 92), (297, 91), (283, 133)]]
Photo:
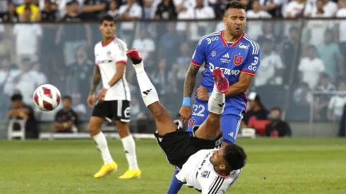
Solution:
[(229, 144), (213, 152), (210, 162), (216, 171), (229, 174), (230, 171), (241, 169), (246, 163), (246, 153), (243, 148)]

